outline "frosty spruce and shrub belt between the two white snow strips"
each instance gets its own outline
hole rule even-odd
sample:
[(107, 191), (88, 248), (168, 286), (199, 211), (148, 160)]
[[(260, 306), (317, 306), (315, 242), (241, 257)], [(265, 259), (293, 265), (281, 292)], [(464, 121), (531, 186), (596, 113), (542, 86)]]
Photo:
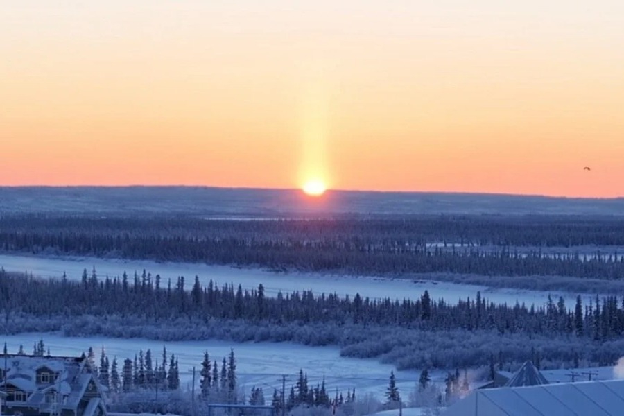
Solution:
[(544, 367), (612, 365), (624, 340), (624, 299), (596, 297), (573, 309), (473, 299), (449, 304), (428, 293), (413, 300), (370, 300), (358, 293), (278, 293), (239, 286), (187, 287), (184, 277), (38, 279), (0, 272), (0, 331), (62, 331), (159, 340), (223, 339), (338, 345), (341, 354), (376, 357), (399, 368), (491, 367), (532, 358)]

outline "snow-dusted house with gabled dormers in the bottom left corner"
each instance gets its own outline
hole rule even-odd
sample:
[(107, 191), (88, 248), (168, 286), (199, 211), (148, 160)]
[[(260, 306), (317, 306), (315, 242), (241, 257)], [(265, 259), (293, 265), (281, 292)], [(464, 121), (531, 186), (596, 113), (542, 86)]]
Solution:
[(85, 356), (0, 355), (2, 415), (105, 416), (105, 393)]

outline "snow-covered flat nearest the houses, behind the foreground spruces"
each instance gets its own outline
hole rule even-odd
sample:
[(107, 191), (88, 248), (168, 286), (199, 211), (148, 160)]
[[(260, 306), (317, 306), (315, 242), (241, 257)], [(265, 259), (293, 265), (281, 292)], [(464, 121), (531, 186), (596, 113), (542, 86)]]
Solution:
[[(112, 363), (117, 357), (119, 371), (123, 359), (134, 359), (139, 349), (144, 352), (151, 349), (153, 358), (162, 361), (162, 347), (166, 346), (169, 354), (178, 358), (180, 365), (180, 381), (182, 386), (190, 388), (192, 368), (201, 369), (203, 354), (207, 351), (211, 361), (219, 362), (234, 348), (239, 377), (239, 385), (248, 393), (252, 387), (263, 388), (265, 397), (272, 395), (273, 389), (281, 390), (281, 374), (287, 374), (286, 386), (297, 381), (300, 368), (308, 374), (308, 383), (315, 386), (325, 377), (325, 385), (330, 395), (336, 389), (346, 395), (347, 389), (356, 389), (356, 395), (371, 392), (378, 399), (383, 399), (388, 388), (390, 372), (395, 371), (397, 387), (401, 395), (408, 397), (415, 388), (419, 372), (414, 370), (397, 371), (393, 365), (382, 364), (374, 359), (341, 357), (338, 347), (306, 347), (291, 343), (232, 343), (229, 341), (179, 341), (162, 343), (147, 339), (118, 339), (104, 337), (64, 337), (55, 333), (21, 333), (14, 336), (0, 336), (0, 343), (7, 343), (9, 353), (17, 353), (19, 345), (24, 345), (24, 352), (31, 354), (34, 343), (44, 340), (52, 355), (80, 356), (89, 347), (96, 353), (96, 364), (99, 365), (99, 354), (104, 347), (106, 355)], [(442, 379), (442, 372), (433, 372), (433, 378)], [(197, 379), (198, 381), (199, 379)], [(196, 388), (198, 388), (198, 382)]]

